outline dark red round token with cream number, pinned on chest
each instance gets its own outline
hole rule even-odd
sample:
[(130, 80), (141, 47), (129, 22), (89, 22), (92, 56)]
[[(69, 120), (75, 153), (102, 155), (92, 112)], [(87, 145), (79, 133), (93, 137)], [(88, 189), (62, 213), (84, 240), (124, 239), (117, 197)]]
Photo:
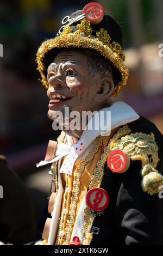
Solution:
[(92, 210), (102, 211), (109, 204), (108, 193), (101, 187), (92, 188), (86, 194), (86, 204)]

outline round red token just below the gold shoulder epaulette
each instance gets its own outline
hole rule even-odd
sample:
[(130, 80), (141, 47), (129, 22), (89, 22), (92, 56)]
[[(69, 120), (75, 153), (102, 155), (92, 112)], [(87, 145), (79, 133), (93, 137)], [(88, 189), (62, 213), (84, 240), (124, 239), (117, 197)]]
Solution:
[(108, 155), (107, 164), (112, 172), (124, 173), (130, 166), (130, 157), (125, 151), (114, 149)]

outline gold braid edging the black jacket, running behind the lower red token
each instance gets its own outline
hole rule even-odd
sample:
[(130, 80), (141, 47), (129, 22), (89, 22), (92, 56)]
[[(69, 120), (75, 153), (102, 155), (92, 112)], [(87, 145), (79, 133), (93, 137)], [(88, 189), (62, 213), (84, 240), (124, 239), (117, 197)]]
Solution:
[[(101, 182), (104, 175), (104, 164), (106, 162), (106, 159), (108, 157), (109, 152), (112, 150), (112, 148), (117, 143), (117, 140), (130, 133), (131, 130), (129, 129), (128, 125), (124, 125), (120, 129), (118, 129), (117, 133), (110, 139), (109, 144), (105, 147), (104, 153), (101, 155), (101, 159), (97, 163), (97, 167), (95, 168), (95, 171), (92, 175), (89, 190), (91, 188), (99, 187), (101, 186)], [(90, 225), (92, 223), (93, 216), (90, 214), (89, 207), (85, 206), (84, 209), (84, 236), (83, 236), (83, 245), (90, 245), (90, 242), (93, 238), (93, 234), (89, 233)]]

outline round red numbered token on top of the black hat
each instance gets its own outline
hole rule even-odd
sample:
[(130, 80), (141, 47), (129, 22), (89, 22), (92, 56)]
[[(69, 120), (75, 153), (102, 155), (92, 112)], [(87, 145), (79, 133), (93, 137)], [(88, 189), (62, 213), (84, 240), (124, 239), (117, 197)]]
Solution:
[(103, 19), (104, 10), (101, 4), (92, 2), (85, 5), (83, 14), (85, 14), (86, 19), (89, 20), (91, 24), (98, 24)]

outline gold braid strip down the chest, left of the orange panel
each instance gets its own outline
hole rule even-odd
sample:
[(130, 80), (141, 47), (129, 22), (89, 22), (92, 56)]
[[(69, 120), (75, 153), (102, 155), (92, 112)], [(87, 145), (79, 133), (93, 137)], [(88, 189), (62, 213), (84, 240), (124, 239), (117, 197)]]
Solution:
[(78, 200), (78, 194), (79, 194), (79, 187), (80, 187), (80, 178), (84, 172), (85, 166), (87, 163), (93, 159), (93, 156), (96, 154), (98, 151), (98, 148), (102, 145), (102, 141), (105, 137), (97, 137), (95, 144), (93, 148), (91, 149), (90, 153), (85, 157), (85, 159), (79, 163), (79, 167), (77, 167), (76, 170), (76, 175), (74, 176), (73, 180), (73, 191), (72, 191), (72, 196), (71, 196), (71, 204), (70, 204), (70, 209), (69, 213), (67, 216), (67, 223), (66, 223), (66, 228), (65, 228), (65, 237), (62, 245), (68, 245), (71, 239), (71, 233), (72, 233), (72, 228), (74, 224), (74, 215), (75, 215), (75, 210), (77, 206), (77, 200)]

